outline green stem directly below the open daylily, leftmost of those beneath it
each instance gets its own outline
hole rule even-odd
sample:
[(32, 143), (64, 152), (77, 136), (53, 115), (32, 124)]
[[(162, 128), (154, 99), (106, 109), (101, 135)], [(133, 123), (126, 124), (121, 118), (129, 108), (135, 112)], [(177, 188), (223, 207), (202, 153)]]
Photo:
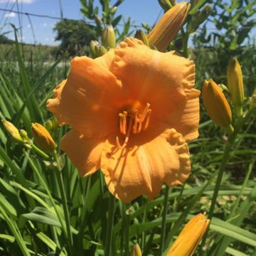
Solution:
[(113, 235), (113, 225), (114, 225), (114, 196), (110, 194), (109, 198), (109, 210), (108, 210), (108, 219), (107, 219), (107, 236), (105, 242), (105, 256), (112, 255), (111, 245), (112, 245), (112, 235)]

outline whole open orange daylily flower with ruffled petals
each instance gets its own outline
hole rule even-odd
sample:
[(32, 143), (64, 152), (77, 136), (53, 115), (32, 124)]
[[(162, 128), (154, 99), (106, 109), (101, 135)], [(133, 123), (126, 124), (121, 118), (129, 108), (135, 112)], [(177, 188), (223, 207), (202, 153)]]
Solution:
[(124, 202), (153, 199), (191, 170), (186, 141), (198, 137), (200, 92), (193, 61), (126, 38), (100, 58), (76, 57), (47, 107), (73, 129), (60, 144), (82, 176), (101, 169)]

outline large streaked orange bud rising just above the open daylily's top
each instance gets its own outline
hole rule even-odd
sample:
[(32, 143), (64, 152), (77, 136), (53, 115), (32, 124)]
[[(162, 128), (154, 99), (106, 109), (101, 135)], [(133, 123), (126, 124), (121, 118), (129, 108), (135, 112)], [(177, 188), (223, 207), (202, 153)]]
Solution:
[(190, 7), (191, 5), (186, 1), (181, 1), (169, 11), (166, 11), (149, 33), (149, 45), (155, 46), (159, 51), (164, 52), (183, 25)]

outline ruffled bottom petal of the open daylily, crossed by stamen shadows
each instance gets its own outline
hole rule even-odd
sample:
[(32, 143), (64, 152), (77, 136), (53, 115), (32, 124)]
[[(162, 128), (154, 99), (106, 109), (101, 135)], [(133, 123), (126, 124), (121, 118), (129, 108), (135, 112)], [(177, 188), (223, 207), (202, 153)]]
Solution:
[(124, 202), (142, 194), (153, 199), (163, 182), (183, 183), (190, 173), (188, 146), (175, 129), (160, 136), (133, 136), (129, 146), (115, 150), (114, 138), (107, 139), (101, 156), (101, 169), (110, 192)]

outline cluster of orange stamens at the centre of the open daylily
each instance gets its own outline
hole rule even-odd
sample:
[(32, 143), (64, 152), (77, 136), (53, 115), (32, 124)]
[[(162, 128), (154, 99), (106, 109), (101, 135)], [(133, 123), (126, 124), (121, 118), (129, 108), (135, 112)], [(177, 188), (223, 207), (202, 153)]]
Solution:
[(151, 115), (151, 110), (149, 109), (150, 104), (146, 103), (146, 107), (139, 114), (139, 110), (135, 109), (132, 111), (123, 111), (119, 113), (119, 130), (121, 134), (125, 135), (124, 144), (120, 144), (119, 138), (116, 137), (117, 147), (119, 149), (124, 149), (127, 146), (131, 132), (133, 134), (139, 134), (140, 132), (146, 130), (149, 126), (149, 119)]

